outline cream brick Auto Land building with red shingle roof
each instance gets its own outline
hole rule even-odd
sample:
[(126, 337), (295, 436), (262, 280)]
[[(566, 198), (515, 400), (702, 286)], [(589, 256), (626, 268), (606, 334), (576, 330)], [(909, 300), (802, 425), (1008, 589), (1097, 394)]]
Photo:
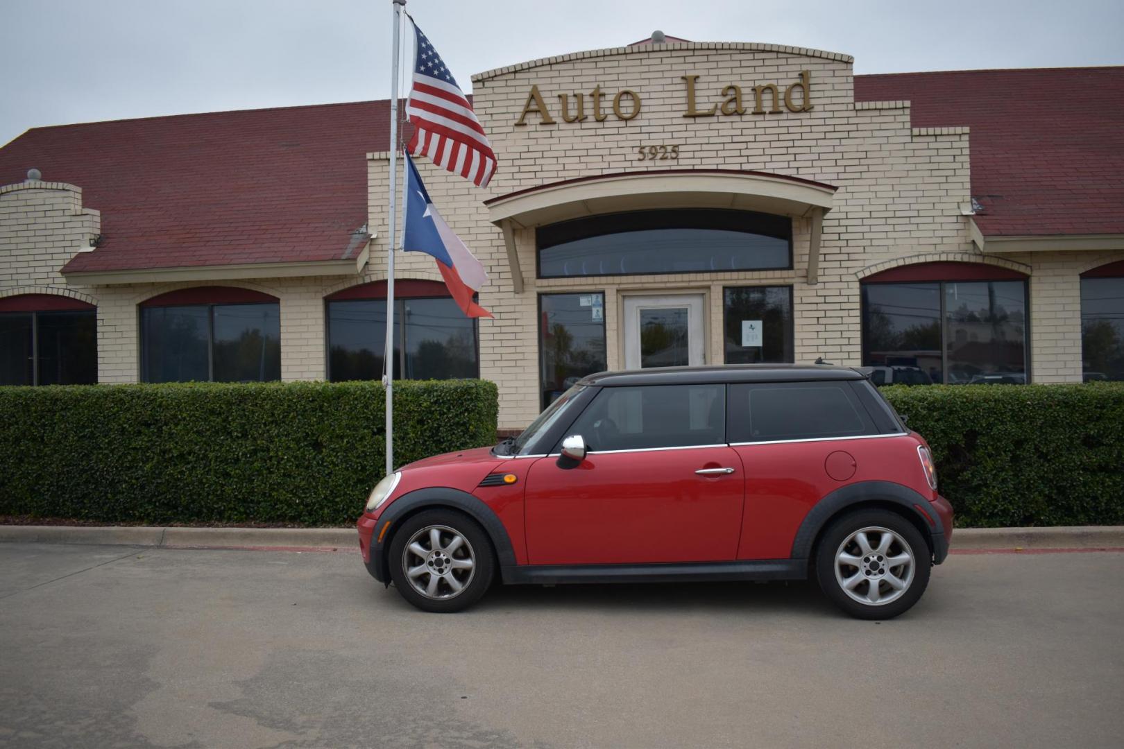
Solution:
[[(846, 55), (668, 37), (472, 89), (488, 189), (418, 166), (495, 319), (460, 317), (432, 259), (400, 255), (393, 366), (497, 382), (501, 428), (604, 368), (1124, 378), (1124, 67), (855, 76)], [(388, 117), (189, 115), (4, 146), (0, 382), (378, 378)]]

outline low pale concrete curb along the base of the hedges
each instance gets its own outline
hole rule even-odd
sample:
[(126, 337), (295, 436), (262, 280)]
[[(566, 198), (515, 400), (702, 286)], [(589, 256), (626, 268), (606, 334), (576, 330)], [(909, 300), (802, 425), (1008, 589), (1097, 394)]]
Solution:
[[(0, 542), (106, 544), (157, 548), (359, 547), (354, 528), (151, 528), (137, 526), (0, 526)], [(1124, 548), (1124, 526), (960, 528), (953, 551)]]

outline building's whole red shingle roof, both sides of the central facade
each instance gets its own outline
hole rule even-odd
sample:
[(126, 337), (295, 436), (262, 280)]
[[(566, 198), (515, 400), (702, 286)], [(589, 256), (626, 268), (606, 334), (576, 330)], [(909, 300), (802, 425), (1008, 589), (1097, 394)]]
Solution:
[[(1124, 232), (1124, 67), (860, 75), (855, 97), (971, 127), (985, 235)], [(0, 184), (36, 167), (101, 211), (67, 271), (344, 259), (388, 118), (369, 101), (36, 128), (0, 148)]]

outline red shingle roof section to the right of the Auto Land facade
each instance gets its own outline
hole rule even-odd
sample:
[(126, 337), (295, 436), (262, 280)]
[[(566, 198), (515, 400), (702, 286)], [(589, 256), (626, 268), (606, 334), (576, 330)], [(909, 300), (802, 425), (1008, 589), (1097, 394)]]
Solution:
[(854, 94), (971, 128), (985, 236), (1124, 234), (1124, 67), (856, 75)]

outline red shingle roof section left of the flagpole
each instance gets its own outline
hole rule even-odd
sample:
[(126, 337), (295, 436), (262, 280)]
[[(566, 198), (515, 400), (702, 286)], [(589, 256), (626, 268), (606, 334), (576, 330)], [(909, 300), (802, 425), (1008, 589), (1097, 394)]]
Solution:
[(36, 128), (0, 149), (0, 184), (36, 167), (101, 211), (102, 244), (67, 272), (346, 259), (389, 103)]

